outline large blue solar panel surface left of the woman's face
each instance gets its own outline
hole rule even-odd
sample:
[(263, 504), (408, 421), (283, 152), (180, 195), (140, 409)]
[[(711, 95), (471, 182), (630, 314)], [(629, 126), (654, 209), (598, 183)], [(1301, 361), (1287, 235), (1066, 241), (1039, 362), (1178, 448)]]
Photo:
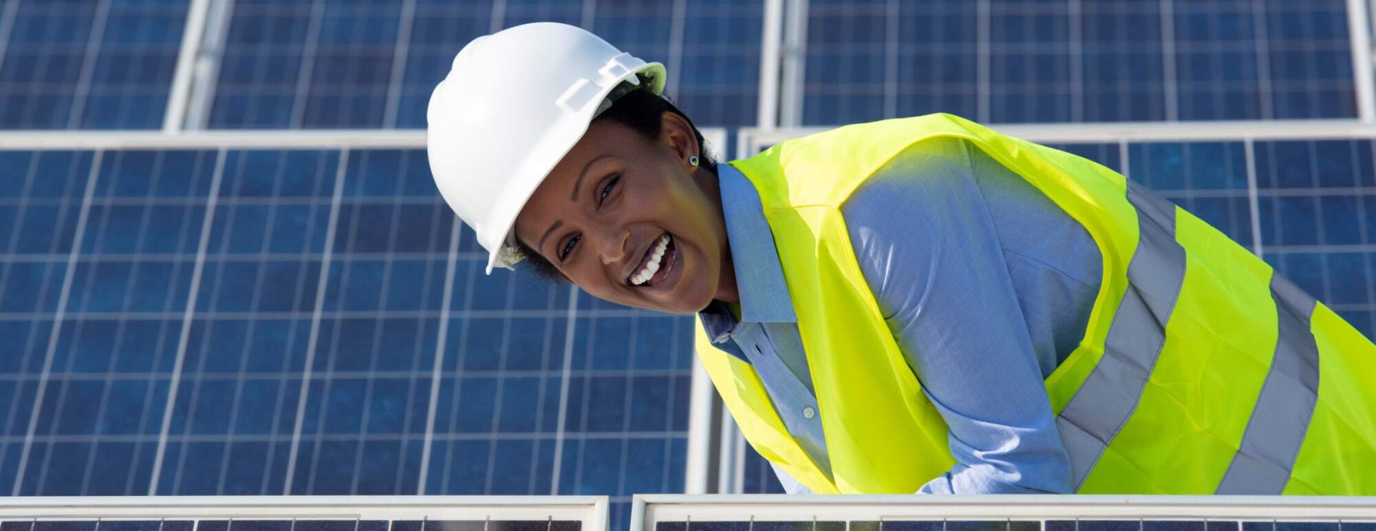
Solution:
[(0, 162), (6, 492), (682, 488), (691, 318), (484, 275), (421, 150)]

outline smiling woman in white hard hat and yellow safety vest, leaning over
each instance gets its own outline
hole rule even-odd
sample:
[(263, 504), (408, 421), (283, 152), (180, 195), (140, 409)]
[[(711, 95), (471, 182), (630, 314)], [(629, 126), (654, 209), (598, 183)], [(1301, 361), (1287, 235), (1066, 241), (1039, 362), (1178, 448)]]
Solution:
[(466, 45), (429, 107), (493, 266), (698, 314), (790, 491), (1376, 494), (1376, 347), (1113, 171), (933, 114), (717, 165), (581, 29)]

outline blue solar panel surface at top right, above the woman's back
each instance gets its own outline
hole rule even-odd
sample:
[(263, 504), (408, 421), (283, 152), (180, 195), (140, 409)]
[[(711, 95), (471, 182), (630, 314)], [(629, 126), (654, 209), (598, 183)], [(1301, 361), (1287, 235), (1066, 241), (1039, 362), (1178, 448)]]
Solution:
[(813, 1), (802, 121), (1355, 116), (1342, 0)]

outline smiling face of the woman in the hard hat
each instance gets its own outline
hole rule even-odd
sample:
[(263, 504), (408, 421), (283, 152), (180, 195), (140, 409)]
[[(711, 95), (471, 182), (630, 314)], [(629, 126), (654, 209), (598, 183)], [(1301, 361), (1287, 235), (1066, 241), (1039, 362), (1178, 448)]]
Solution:
[(694, 166), (692, 127), (665, 113), (658, 140), (597, 120), (516, 217), (516, 238), (607, 301), (671, 314), (735, 301), (717, 177)]

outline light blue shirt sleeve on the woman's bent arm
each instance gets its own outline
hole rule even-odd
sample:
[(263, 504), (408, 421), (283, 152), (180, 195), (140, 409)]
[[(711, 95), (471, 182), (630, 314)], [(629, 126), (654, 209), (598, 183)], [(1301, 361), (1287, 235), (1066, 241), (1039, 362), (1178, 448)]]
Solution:
[(1068, 492), (1069, 457), (974, 177), (982, 151), (923, 144), (842, 205), (879, 310), (949, 426), (956, 464), (919, 492)]

